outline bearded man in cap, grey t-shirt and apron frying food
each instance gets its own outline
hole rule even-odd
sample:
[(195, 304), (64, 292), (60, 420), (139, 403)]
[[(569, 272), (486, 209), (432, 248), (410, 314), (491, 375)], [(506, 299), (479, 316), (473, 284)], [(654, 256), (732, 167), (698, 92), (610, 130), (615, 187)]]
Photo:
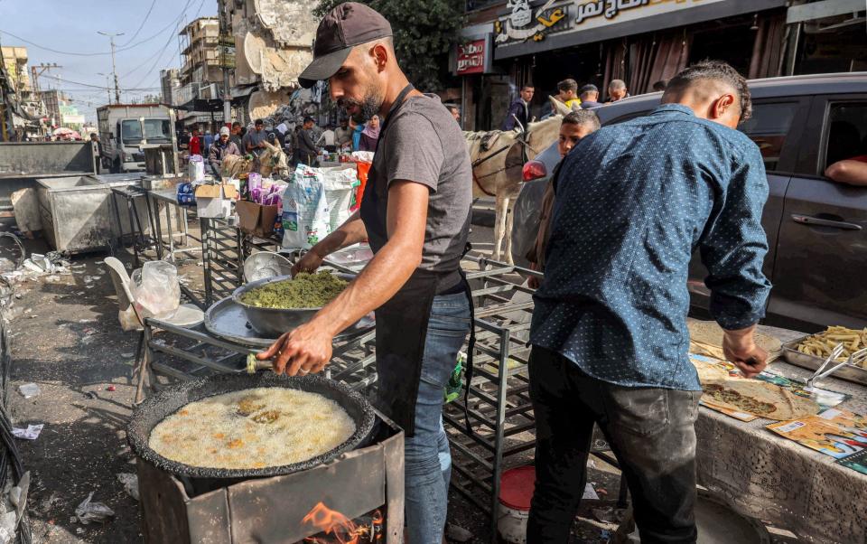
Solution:
[[(322, 370), (336, 333), (376, 310), (378, 408), (406, 433), (406, 530), (412, 544), (442, 544), (451, 474), (443, 389), (470, 330), (460, 271), (470, 229), (472, 170), (461, 128), (396, 61), (390, 24), (367, 5), (341, 4), (316, 33), (304, 87), (328, 80), (331, 98), (361, 124), (382, 117), (360, 211), (313, 246), (294, 271), (312, 271), (368, 239), (374, 257), (310, 322), (260, 359), (275, 370)], [(399, 514), (398, 514), (399, 515)]]

